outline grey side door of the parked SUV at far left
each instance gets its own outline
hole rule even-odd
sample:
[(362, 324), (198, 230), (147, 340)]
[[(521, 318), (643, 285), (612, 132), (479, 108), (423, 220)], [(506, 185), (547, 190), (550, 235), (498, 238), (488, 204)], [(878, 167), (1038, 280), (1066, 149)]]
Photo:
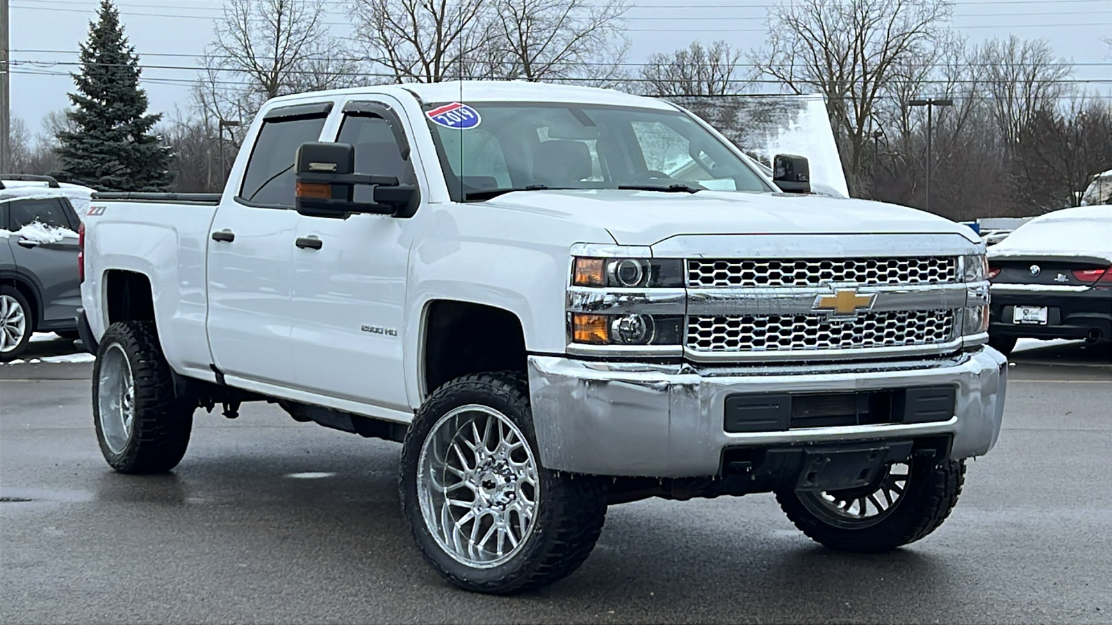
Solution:
[(66, 198), (12, 199), (8, 247), (39, 299), (37, 329), (71, 329), (81, 306), (77, 216)]

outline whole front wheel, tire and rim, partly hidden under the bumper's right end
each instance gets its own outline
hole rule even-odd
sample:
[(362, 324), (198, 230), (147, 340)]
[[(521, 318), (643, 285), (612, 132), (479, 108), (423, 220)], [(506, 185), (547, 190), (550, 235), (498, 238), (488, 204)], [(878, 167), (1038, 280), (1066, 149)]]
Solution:
[(888, 552), (942, 525), (957, 504), (965, 462), (920, 457), (888, 467), (878, 484), (830, 493), (777, 490), (787, 518), (832, 549)]

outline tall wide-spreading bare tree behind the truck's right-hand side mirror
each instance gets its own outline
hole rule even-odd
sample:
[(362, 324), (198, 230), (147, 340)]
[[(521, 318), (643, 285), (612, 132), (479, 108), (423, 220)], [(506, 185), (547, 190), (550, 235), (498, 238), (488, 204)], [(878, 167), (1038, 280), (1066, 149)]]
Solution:
[(932, 56), (951, 9), (950, 0), (795, 0), (770, 9), (768, 40), (754, 65), (794, 92), (826, 97), (851, 192), (862, 183), (877, 105), (900, 63)]

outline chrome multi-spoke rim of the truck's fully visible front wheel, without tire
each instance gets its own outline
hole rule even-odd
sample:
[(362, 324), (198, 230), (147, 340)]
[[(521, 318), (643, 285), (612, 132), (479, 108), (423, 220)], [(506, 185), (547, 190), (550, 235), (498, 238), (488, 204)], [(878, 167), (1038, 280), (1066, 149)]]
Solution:
[(417, 496), (425, 525), (456, 562), (498, 566), (533, 533), (537, 470), (513, 420), (488, 406), (460, 406), (441, 417), (421, 445)]

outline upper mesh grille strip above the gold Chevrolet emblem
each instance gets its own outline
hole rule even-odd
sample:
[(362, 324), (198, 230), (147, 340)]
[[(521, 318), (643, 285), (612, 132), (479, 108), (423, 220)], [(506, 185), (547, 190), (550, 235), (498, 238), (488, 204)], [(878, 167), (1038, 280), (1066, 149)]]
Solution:
[(698, 259), (687, 261), (691, 288), (945, 285), (957, 281), (957, 258)]

